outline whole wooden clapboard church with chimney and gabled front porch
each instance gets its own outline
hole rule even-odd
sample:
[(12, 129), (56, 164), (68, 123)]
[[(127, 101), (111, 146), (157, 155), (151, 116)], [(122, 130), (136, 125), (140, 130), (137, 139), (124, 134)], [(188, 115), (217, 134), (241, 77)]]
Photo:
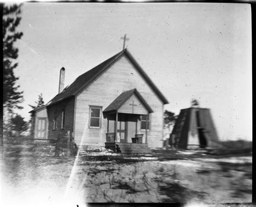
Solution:
[(164, 95), (127, 49), (80, 75), (45, 106), (31, 111), (33, 137), (72, 134), (78, 147), (163, 147)]

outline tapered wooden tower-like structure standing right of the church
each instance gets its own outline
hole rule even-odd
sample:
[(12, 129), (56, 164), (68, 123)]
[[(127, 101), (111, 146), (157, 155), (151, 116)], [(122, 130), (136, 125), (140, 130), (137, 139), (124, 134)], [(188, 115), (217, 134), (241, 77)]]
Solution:
[(181, 109), (169, 143), (179, 149), (219, 147), (219, 137), (210, 109), (199, 108), (198, 104)]

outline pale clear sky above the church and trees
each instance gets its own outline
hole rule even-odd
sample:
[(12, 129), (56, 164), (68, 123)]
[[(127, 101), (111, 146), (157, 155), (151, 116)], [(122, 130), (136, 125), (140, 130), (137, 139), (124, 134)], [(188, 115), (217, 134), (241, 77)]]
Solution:
[(252, 140), (252, 37), (250, 4), (24, 3), (24, 33), (15, 74), (24, 109), (42, 93), (65, 86), (126, 47), (179, 114), (210, 108), (220, 140)]

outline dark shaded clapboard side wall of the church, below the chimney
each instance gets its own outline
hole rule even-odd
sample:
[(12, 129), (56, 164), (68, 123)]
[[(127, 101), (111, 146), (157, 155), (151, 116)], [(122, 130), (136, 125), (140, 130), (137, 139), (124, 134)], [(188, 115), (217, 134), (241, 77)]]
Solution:
[[(75, 98), (71, 97), (53, 106), (48, 107), (48, 136), (49, 139), (57, 139), (58, 134), (65, 135), (68, 131), (73, 132), (73, 117), (74, 117)], [(65, 109), (65, 124), (62, 129), (62, 111)], [(53, 129), (53, 120), (56, 119), (57, 129)]]

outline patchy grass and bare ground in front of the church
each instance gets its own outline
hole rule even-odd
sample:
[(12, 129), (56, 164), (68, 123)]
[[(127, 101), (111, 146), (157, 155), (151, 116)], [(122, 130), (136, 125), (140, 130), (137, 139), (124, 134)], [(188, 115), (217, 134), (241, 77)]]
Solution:
[(252, 154), (107, 150), (56, 157), (53, 144), (4, 142), (2, 206), (85, 206), (91, 202), (252, 202)]

